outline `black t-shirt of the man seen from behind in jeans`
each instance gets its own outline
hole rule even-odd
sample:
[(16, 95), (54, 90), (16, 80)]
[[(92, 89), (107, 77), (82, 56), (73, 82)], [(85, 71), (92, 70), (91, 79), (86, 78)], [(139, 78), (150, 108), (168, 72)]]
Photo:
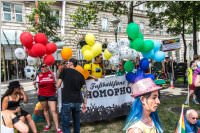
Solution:
[(84, 76), (71, 68), (64, 68), (59, 79), (63, 81), (62, 103), (81, 103), (81, 87), (85, 84)]

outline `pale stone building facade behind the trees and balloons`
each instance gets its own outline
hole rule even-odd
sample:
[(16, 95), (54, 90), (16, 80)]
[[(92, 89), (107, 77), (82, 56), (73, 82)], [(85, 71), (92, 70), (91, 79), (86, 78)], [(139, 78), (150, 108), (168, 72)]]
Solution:
[[(27, 65), (26, 60), (17, 60), (14, 55), (14, 50), (22, 47), (19, 36), (23, 31), (27, 31), (30, 27), (26, 16), (31, 13), (32, 8), (35, 7), (35, 2), (31, 1), (1, 1), (1, 81), (12, 80), (24, 77), (24, 67)], [(70, 14), (82, 6), (78, 2), (59, 1), (52, 6), (52, 12), (59, 14), (61, 28), (58, 30), (65, 47), (70, 47), (73, 50), (73, 56), (82, 59), (80, 54), (80, 46), (77, 45), (86, 33), (93, 33), (96, 41), (104, 45), (115, 41), (114, 26), (112, 21), (115, 17), (110, 12), (99, 12), (98, 21), (96, 24), (89, 24), (87, 27), (78, 29), (73, 27)], [(126, 26), (127, 16), (121, 15), (118, 24), (118, 40), (127, 38)], [(155, 30), (149, 27), (149, 20), (146, 16), (145, 6), (140, 5), (134, 9), (134, 22), (136, 22), (142, 33), (144, 39), (152, 39), (162, 41), (165, 39), (174, 38), (166, 33), (166, 29)], [(183, 61), (183, 44), (181, 39), (181, 49), (172, 52), (172, 56), (177, 61)], [(186, 38), (187, 43), (192, 43), (192, 37)], [(56, 60), (62, 60), (60, 51), (62, 45), (58, 47), (54, 54)], [(171, 53), (170, 53), (171, 54)]]

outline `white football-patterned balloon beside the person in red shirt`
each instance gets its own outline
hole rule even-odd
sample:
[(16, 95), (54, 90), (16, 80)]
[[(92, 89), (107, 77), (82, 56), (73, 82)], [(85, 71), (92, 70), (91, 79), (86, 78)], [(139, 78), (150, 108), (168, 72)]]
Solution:
[(26, 66), (24, 68), (24, 73), (26, 78), (33, 80), (36, 76), (36, 69), (33, 66)]

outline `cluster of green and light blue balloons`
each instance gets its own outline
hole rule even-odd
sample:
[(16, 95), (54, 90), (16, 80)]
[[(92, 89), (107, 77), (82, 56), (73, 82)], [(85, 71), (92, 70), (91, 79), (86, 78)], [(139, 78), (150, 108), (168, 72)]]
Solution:
[(130, 40), (130, 48), (141, 52), (143, 57), (161, 62), (165, 58), (165, 53), (160, 50), (161, 44), (158, 41), (144, 40), (143, 34), (136, 23), (128, 24), (126, 33)]

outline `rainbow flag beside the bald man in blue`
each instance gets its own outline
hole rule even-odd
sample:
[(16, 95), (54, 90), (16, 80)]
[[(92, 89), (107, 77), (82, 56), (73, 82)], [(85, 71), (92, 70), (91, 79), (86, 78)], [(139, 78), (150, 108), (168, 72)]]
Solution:
[(180, 116), (178, 125), (176, 127), (175, 133), (186, 133), (183, 110), (184, 110), (184, 105), (182, 105), (181, 116)]

